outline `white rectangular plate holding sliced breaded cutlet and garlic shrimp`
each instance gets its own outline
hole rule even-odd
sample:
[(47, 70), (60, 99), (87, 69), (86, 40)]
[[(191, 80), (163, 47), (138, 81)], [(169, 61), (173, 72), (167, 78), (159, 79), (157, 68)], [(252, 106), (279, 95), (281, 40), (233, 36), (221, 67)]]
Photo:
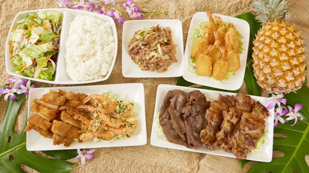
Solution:
[(111, 84), (111, 85), (92, 85), (92, 86), (68, 86), (68, 87), (52, 87), (52, 88), (35, 88), (31, 89), (28, 100), (28, 118), (34, 115), (30, 111), (33, 99), (40, 99), (45, 94), (45, 90), (58, 91), (71, 91), (73, 93), (102, 94), (105, 90), (112, 92), (115, 95), (138, 103), (140, 112), (138, 117), (138, 125), (134, 133), (138, 135), (130, 135), (130, 138), (124, 140), (115, 140), (110, 143), (104, 141), (94, 142), (93, 140), (78, 143), (75, 141), (69, 147), (61, 145), (53, 145), (53, 139), (44, 138), (34, 130), (27, 132), (27, 150), (28, 151), (46, 151), (46, 150), (66, 150), (77, 148), (104, 148), (104, 147), (124, 147), (124, 146), (138, 146), (145, 145), (147, 142), (146, 133), (146, 117), (145, 117), (145, 94), (144, 85), (142, 83), (124, 83), (124, 84)]

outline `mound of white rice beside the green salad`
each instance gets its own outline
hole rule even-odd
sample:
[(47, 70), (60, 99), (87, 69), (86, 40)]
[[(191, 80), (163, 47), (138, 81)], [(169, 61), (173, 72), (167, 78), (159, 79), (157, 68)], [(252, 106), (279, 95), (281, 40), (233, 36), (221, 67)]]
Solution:
[(115, 40), (111, 22), (78, 15), (66, 40), (66, 71), (74, 81), (104, 78), (112, 65)]

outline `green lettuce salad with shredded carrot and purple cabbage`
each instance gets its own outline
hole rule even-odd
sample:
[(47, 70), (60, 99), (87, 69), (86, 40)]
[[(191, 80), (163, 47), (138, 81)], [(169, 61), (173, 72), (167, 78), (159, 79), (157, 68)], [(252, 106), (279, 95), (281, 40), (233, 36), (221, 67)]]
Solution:
[(16, 73), (32, 78), (54, 80), (59, 50), (61, 13), (29, 13), (11, 31), (10, 53)]

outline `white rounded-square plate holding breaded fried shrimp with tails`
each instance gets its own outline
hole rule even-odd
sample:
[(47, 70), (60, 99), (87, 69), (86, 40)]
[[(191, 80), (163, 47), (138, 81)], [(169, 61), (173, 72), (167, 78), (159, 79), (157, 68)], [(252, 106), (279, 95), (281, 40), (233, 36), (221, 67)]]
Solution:
[(249, 47), (249, 37), (250, 37), (250, 26), (247, 21), (239, 19), (239, 18), (233, 18), (230, 16), (224, 16), (220, 14), (212, 14), (212, 17), (219, 16), (222, 18), (223, 22), (227, 23), (233, 23), (236, 29), (239, 31), (240, 34), (243, 35), (242, 41), (243, 41), (243, 53), (240, 55), (240, 69), (237, 70), (235, 76), (231, 76), (228, 80), (224, 80), (222, 82), (219, 82), (217, 80), (214, 80), (208, 76), (198, 76), (195, 73), (190, 72), (189, 69), (189, 58), (191, 56), (193, 43), (191, 40), (191, 37), (193, 35), (194, 28), (203, 21), (209, 21), (206, 12), (197, 12), (193, 15), (193, 18), (191, 20), (188, 38), (187, 38), (187, 44), (184, 51), (184, 74), (183, 77), (185, 80), (189, 82), (193, 82), (196, 84), (204, 85), (204, 86), (210, 86), (214, 88), (219, 88), (223, 90), (238, 90), (241, 85), (243, 84), (243, 78), (245, 75), (246, 70), (246, 61), (247, 61), (247, 54), (248, 54), (248, 47)]

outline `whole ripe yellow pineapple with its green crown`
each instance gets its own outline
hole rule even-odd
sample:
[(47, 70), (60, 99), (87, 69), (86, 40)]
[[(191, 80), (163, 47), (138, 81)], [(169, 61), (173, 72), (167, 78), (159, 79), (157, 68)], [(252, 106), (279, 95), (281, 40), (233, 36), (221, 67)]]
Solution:
[(258, 0), (252, 3), (262, 22), (253, 41), (253, 68), (257, 83), (268, 93), (290, 93), (298, 90), (306, 77), (303, 38), (287, 22), (289, 2)]

